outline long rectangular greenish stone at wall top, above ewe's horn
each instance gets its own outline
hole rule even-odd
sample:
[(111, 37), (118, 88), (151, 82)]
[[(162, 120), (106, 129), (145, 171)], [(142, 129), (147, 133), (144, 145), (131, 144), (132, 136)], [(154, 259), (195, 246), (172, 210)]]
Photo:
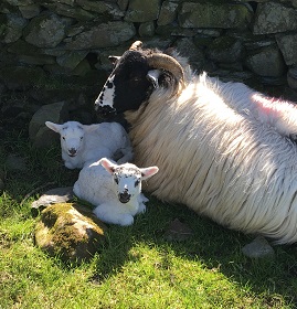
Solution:
[(252, 15), (252, 11), (242, 3), (183, 2), (178, 20), (183, 28), (244, 29)]

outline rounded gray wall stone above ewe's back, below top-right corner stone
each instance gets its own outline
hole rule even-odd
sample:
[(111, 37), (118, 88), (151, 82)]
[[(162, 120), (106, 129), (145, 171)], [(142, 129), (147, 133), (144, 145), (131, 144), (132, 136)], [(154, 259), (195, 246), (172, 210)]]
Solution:
[(285, 73), (286, 65), (277, 47), (264, 47), (246, 57), (247, 67), (261, 76), (278, 77)]

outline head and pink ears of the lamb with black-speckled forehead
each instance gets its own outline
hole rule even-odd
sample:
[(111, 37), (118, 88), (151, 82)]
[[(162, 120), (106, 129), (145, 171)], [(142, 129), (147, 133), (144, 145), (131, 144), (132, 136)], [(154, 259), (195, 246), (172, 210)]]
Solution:
[(100, 159), (99, 163), (113, 175), (114, 189), (123, 204), (140, 194), (142, 180), (149, 179), (159, 171), (157, 167), (140, 169), (131, 163), (118, 166), (106, 158)]

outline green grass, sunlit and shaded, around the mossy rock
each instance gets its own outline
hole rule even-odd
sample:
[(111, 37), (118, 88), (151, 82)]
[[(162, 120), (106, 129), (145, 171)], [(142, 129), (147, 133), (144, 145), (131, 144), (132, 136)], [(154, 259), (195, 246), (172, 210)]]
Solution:
[[(0, 308), (296, 308), (297, 248), (276, 246), (274, 260), (252, 260), (241, 249), (252, 236), (229, 231), (181, 205), (150, 199), (132, 226), (109, 226), (107, 242), (89, 263), (65, 265), (34, 246), (39, 217), (31, 202), (46, 183), (72, 185), (77, 171), (61, 164), (59, 149), (36, 151), (22, 134), (1, 140), (25, 158), (24, 172), (6, 171), (0, 196)], [(168, 242), (176, 217), (193, 235)]]

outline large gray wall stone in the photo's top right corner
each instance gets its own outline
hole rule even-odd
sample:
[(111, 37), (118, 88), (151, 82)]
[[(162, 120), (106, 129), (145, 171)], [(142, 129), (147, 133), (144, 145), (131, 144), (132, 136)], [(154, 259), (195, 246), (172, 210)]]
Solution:
[(268, 1), (257, 7), (254, 34), (268, 34), (297, 29), (297, 11), (282, 3)]

